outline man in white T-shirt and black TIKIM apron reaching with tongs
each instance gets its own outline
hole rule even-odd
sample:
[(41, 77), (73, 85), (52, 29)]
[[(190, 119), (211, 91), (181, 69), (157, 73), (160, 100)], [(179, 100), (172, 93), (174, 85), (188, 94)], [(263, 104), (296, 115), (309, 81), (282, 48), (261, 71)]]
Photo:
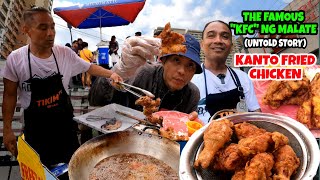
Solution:
[(116, 73), (83, 61), (70, 48), (54, 45), (55, 23), (50, 11), (33, 7), (23, 14), (29, 44), (13, 51), (3, 69), (4, 144), (17, 155), (12, 118), (17, 95), (24, 109), (25, 140), (51, 168), (68, 163), (79, 147), (73, 107), (66, 93), (69, 80), (82, 72), (122, 81)]

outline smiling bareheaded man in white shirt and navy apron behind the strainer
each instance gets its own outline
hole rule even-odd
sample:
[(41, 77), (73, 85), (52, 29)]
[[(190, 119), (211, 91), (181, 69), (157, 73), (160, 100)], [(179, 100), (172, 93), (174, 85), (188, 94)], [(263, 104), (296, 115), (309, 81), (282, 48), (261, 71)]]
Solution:
[(248, 75), (226, 66), (232, 46), (228, 24), (217, 20), (205, 25), (201, 41), (205, 56), (201, 65), (203, 73), (195, 75), (191, 82), (199, 88), (198, 114), (206, 123), (210, 116), (222, 109), (261, 111)]

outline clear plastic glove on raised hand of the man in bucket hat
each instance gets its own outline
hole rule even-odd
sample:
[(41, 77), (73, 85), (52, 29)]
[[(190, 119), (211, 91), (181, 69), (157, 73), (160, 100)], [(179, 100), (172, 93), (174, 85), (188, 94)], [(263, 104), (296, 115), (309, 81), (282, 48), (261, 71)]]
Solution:
[(122, 47), (121, 59), (112, 68), (124, 80), (131, 78), (147, 60), (154, 61), (160, 54), (161, 39), (134, 36), (126, 39)]

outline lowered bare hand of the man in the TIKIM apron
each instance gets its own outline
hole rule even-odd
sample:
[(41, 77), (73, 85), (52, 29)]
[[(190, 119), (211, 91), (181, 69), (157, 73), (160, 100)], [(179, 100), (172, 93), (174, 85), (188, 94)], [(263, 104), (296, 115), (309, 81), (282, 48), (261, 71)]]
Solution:
[(4, 129), (3, 132), (4, 132), (3, 133), (4, 146), (7, 148), (8, 151), (11, 152), (12, 155), (17, 156), (18, 155), (17, 140), (12, 129)]

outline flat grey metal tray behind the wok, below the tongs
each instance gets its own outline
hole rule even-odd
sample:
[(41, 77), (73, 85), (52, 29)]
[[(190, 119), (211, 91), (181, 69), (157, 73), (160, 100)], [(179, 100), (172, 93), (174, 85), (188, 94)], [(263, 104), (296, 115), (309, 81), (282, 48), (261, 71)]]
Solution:
[[(137, 118), (140, 119), (144, 119), (145, 115), (143, 115), (142, 112), (125, 107), (125, 106), (121, 106), (119, 104), (109, 104), (106, 106), (103, 106), (101, 108), (97, 108), (89, 113), (83, 114), (81, 116), (76, 116), (73, 119), (81, 124), (84, 124), (86, 126), (89, 126), (97, 131), (100, 131), (102, 133), (112, 133), (112, 132), (117, 132), (117, 131), (123, 131), (126, 130), (136, 124), (138, 124), (138, 121), (128, 118), (126, 116), (122, 116), (116, 113), (116, 111), (120, 111), (120, 112), (124, 112), (126, 114), (130, 114), (132, 116), (135, 116)], [(101, 128), (101, 126), (103, 124), (105, 124), (106, 120), (102, 119), (99, 121), (88, 121), (87, 117), (89, 115), (94, 115), (94, 116), (99, 116), (99, 117), (103, 117), (103, 118), (116, 118), (117, 120), (121, 121), (121, 127), (116, 129), (116, 130), (106, 130)]]

